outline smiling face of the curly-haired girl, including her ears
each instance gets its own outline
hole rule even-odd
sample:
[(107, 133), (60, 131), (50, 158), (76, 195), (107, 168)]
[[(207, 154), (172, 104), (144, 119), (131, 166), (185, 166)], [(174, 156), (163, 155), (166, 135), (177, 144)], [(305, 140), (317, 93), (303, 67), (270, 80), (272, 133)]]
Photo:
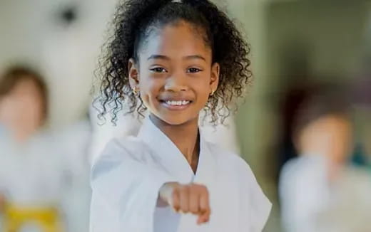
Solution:
[(219, 65), (202, 31), (180, 21), (153, 30), (129, 61), (132, 88), (138, 88), (151, 114), (170, 125), (198, 120), (218, 87)]

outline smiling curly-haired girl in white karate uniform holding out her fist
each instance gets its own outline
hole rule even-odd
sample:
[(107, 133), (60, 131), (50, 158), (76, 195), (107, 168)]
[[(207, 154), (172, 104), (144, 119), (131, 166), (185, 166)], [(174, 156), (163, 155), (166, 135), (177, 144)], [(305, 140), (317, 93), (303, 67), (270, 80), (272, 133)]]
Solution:
[(200, 110), (223, 122), (250, 80), (240, 32), (207, 0), (128, 0), (115, 26), (101, 115), (126, 102), (150, 116), (93, 164), (91, 231), (262, 231), (271, 205), (248, 164), (198, 129)]

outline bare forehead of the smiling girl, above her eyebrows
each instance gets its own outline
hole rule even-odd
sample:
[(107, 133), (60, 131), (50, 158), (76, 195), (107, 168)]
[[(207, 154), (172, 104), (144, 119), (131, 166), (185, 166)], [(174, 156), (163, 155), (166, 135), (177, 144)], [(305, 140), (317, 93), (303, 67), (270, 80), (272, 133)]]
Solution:
[(178, 22), (153, 29), (143, 43), (139, 55), (146, 59), (153, 55), (201, 55), (211, 59), (211, 49), (201, 28)]

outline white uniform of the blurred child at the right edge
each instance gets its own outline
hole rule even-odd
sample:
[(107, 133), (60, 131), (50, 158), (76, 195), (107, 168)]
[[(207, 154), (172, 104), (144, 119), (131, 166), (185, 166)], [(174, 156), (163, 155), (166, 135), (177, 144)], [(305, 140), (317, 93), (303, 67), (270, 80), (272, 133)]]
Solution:
[(325, 156), (307, 154), (285, 164), (280, 177), (283, 226), (288, 232), (371, 231), (371, 176), (344, 167), (329, 181)]

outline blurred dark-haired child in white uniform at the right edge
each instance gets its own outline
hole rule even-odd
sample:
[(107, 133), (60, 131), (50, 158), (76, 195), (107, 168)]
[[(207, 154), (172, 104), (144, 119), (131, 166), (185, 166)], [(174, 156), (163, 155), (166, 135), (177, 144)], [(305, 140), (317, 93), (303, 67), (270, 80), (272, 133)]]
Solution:
[(293, 117), (298, 157), (281, 172), (283, 226), (297, 231), (370, 231), (371, 178), (349, 164), (350, 105), (341, 91), (312, 93)]

